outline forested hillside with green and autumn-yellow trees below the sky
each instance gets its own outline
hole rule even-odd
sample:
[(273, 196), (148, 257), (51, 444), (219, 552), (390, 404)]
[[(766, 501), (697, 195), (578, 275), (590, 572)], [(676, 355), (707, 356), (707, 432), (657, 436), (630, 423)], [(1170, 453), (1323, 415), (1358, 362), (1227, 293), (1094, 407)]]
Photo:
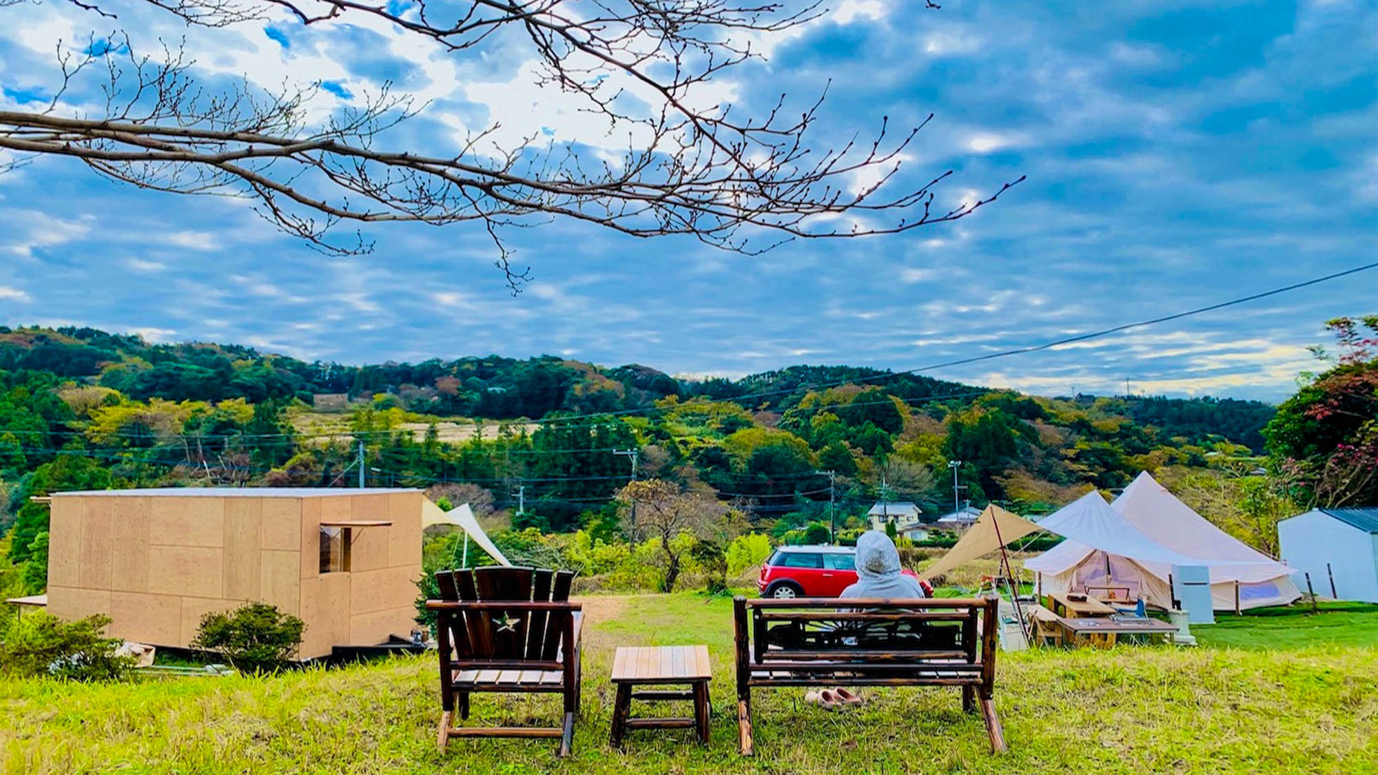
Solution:
[(1250, 401), (1039, 397), (852, 367), (707, 381), (554, 357), (354, 367), (4, 328), (0, 534), (12, 523), (10, 556), (41, 558), (47, 510), (32, 495), (350, 487), (361, 451), (369, 485), (524, 503), (518, 527), (553, 531), (613, 535), (633, 451), (642, 479), (785, 530), (824, 513), (860, 524), (876, 499), (936, 517), (954, 484), (977, 506), (1042, 513), (1141, 470), (1254, 470), (1272, 415)]

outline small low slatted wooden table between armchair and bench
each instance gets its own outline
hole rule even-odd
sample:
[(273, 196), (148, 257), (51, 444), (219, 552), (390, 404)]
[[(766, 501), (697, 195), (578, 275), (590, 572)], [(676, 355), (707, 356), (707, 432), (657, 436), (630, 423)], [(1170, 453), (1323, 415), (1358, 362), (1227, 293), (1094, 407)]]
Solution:
[[(612, 661), (617, 701), (612, 710), (612, 745), (621, 747), (627, 729), (688, 729), (708, 742), (708, 681), (712, 666), (707, 645), (620, 647)], [(642, 690), (639, 685), (688, 685), (688, 690)], [(693, 701), (693, 718), (631, 718), (631, 701)]]

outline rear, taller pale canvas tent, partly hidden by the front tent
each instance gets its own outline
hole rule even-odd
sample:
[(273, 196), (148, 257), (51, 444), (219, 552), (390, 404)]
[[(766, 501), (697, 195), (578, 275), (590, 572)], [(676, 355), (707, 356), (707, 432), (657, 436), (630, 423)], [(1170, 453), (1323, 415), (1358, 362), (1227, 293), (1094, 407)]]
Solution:
[[(1248, 546), (1182, 503), (1148, 472), (1124, 488), (1111, 503), (1126, 521), (1158, 543), (1184, 554), (1218, 557), (1247, 565), (1211, 565), (1210, 592), (1217, 611), (1235, 610), (1236, 582), (1239, 608), (1286, 605), (1301, 597), (1293, 582), (1293, 568)], [(1155, 575), (1166, 579), (1170, 568), (1149, 563)]]

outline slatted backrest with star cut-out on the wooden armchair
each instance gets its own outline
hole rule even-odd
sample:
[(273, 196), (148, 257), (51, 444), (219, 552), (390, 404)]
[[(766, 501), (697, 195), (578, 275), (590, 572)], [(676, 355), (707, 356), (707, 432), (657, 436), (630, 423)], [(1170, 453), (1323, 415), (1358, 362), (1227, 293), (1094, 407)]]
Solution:
[(572, 571), (506, 565), (440, 571), (435, 582), (444, 601), (518, 605), (440, 611), (437, 627), (448, 626), (460, 662), (554, 662), (559, 658), (561, 633), (577, 608), (569, 603), (573, 578)]

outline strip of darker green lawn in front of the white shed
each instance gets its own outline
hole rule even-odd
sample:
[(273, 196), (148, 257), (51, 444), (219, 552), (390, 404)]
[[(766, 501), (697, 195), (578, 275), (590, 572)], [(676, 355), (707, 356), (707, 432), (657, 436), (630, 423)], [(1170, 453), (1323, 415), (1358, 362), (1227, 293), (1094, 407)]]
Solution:
[(1215, 614), (1214, 625), (1193, 625), (1202, 645), (1232, 648), (1305, 648), (1313, 645), (1357, 645), (1378, 648), (1378, 605), (1367, 603), (1320, 603), (1319, 614), (1309, 607), (1259, 608), (1242, 616)]

